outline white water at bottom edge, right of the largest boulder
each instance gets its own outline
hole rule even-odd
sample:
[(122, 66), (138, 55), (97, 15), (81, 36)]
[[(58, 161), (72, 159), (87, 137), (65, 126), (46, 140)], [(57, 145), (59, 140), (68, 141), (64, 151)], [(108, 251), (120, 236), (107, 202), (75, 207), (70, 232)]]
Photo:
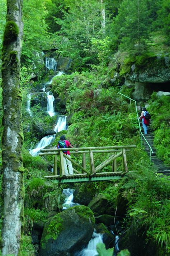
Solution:
[(76, 252), (75, 256), (95, 256), (98, 255), (96, 251), (96, 245), (98, 243), (103, 243), (103, 234), (93, 232), (92, 238), (89, 241), (88, 245), (82, 249), (80, 252)]

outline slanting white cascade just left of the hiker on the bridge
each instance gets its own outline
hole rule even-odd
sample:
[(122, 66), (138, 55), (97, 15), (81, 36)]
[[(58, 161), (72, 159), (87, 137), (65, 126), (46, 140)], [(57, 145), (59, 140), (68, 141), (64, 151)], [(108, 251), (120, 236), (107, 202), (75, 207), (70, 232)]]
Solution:
[(50, 143), (52, 143), (55, 139), (55, 135), (48, 135), (42, 138), (36, 148), (29, 150), (29, 153), (33, 156), (36, 157), (36, 155), (39, 154), (40, 150), (48, 146)]

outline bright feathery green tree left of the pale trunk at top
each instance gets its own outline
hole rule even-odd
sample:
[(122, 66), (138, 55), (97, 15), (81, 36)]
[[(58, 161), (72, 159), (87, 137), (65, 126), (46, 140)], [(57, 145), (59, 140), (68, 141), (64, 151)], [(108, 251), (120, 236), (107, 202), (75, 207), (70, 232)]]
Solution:
[(97, 1), (76, 0), (69, 5), (69, 10), (62, 19), (56, 19), (61, 26), (56, 37), (60, 55), (73, 60), (73, 69), (81, 70), (83, 66), (94, 64), (96, 60), (92, 39), (101, 37), (99, 12), (100, 5)]

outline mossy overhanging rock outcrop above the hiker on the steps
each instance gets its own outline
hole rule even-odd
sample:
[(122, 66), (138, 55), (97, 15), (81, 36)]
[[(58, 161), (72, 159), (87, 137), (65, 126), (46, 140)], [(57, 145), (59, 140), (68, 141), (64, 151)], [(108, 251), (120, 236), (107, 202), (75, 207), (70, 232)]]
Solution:
[[(117, 64), (121, 73), (121, 64)], [(153, 91), (169, 92), (170, 59), (169, 57), (154, 56), (132, 63), (127, 72), (123, 74), (124, 84), (133, 88), (133, 99), (146, 101)], [(116, 80), (118, 75), (114, 76)], [(111, 79), (113, 80), (113, 79)], [(121, 84), (120, 84), (121, 85)]]

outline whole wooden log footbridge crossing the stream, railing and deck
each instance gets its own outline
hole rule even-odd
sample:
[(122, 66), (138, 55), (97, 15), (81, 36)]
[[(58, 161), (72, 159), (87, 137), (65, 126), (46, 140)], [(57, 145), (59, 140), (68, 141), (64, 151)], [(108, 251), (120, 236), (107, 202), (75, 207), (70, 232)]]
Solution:
[[(69, 158), (64, 154), (63, 150), (66, 149), (42, 149), (39, 155), (54, 155), (54, 170), (53, 175), (44, 176), (44, 178), (55, 179), (59, 183), (69, 182), (90, 182), (90, 181), (106, 181), (120, 179), (128, 172), (126, 152), (129, 152), (131, 148), (135, 148), (136, 145), (127, 146), (104, 146), (104, 147), (89, 147), (89, 148), (71, 148), (70, 154), (79, 156), (82, 154), (82, 164), (77, 163), (75, 160)], [(98, 166), (94, 163), (93, 154), (96, 153), (109, 153), (109, 158)], [(89, 155), (89, 157), (87, 157)], [(67, 158), (72, 162), (74, 174), (65, 175), (63, 158)], [(122, 157), (121, 171), (117, 171), (118, 162), (117, 158)], [(87, 161), (88, 160), (88, 161)], [(108, 164), (112, 164), (111, 172), (102, 172), (102, 169)], [(57, 168), (60, 169), (59, 175), (57, 175)], [(80, 169), (80, 171), (77, 171)], [(120, 169), (120, 166), (119, 166)]]

